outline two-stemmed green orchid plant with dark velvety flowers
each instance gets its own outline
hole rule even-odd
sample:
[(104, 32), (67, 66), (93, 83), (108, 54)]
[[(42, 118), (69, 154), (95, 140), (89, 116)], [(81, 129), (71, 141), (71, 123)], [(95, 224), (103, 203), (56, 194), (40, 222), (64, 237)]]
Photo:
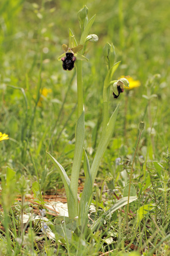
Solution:
[[(72, 31), (69, 30), (69, 45), (63, 45), (64, 53), (58, 58), (63, 62), (64, 70), (71, 70), (76, 66), (77, 72), (77, 88), (78, 88), (78, 120), (75, 128), (75, 151), (73, 157), (73, 165), (71, 172), (71, 180), (67, 176), (63, 166), (58, 163), (58, 161), (48, 153), (49, 158), (52, 160), (56, 169), (60, 173), (61, 179), (63, 181), (67, 203), (68, 203), (68, 214), (69, 217), (75, 218), (78, 216), (79, 225), (84, 223), (87, 219), (88, 210), (92, 200), (92, 187), (97, 176), (98, 168), (105, 153), (105, 150), (109, 144), (114, 131), (114, 125), (117, 118), (117, 113), (119, 105), (114, 110), (112, 116), (109, 119), (109, 95), (110, 87), (113, 86), (113, 95), (117, 98), (120, 93), (124, 91), (124, 87), (129, 87), (129, 82), (126, 78), (121, 78), (119, 80), (112, 80), (112, 76), (116, 69), (118, 68), (120, 61), (114, 64), (115, 59), (115, 49), (113, 44), (106, 43), (103, 48), (103, 56), (105, 64), (107, 65), (107, 75), (103, 86), (103, 125), (102, 134), (99, 140), (98, 148), (95, 157), (90, 167), (86, 151), (84, 150), (84, 107), (83, 107), (83, 84), (82, 84), (82, 61), (88, 61), (86, 57), (83, 56), (84, 46), (87, 41), (97, 42), (98, 37), (95, 34), (89, 35), (91, 26), (95, 20), (95, 15), (88, 20), (88, 8), (86, 5), (78, 12), (78, 19), (81, 29), (81, 38), (79, 45), (73, 35)], [(78, 203), (78, 180), (80, 165), (82, 162), (82, 155), (84, 154), (84, 174), (86, 177), (82, 196), (80, 202)], [(136, 199), (135, 199), (136, 200)]]

